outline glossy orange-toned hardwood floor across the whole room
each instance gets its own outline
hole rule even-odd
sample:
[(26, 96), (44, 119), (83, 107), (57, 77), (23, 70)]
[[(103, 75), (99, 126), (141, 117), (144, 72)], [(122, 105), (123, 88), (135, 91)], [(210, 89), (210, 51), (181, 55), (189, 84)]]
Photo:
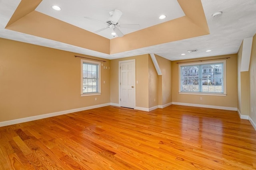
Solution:
[(107, 106), (0, 127), (0, 169), (250, 170), (256, 131), (236, 111)]

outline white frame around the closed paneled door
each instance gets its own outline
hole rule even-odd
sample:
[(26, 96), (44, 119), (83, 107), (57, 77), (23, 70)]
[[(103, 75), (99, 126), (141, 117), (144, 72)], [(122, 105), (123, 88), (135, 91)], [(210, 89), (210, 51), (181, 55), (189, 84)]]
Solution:
[(121, 107), (121, 63), (134, 62), (134, 109), (136, 107), (136, 59), (124, 60), (118, 62), (118, 106)]

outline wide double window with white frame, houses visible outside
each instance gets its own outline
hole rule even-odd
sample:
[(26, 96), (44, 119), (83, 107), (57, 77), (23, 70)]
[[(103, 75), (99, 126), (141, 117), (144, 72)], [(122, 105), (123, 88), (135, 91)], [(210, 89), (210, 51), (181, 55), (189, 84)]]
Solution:
[(226, 95), (226, 61), (179, 64), (179, 68), (180, 93)]

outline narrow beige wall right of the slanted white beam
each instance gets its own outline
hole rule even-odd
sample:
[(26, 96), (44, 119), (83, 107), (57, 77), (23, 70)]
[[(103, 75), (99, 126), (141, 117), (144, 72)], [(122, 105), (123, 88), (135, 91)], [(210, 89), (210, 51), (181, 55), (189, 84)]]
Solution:
[(163, 106), (172, 102), (172, 62), (158, 55), (155, 56), (162, 72), (162, 75), (158, 76), (158, 104)]

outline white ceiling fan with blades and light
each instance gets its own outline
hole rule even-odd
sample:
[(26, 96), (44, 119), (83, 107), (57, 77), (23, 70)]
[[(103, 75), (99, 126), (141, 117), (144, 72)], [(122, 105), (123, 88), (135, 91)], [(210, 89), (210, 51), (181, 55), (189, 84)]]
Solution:
[(105, 29), (111, 28), (111, 29), (113, 29), (112, 35), (118, 35), (118, 37), (122, 37), (122, 36), (124, 36), (124, 34), (120, 30), (120, 28), (130, 28), (130, 29), (139, 29), (140, 28), (139, 24), (120, 24), (120, 23), (118, 23), (119, 19), (122, 16), (122, 12), (120, 10), (110, 11), (109, 14), (110, 14), (110, 18), (108, 18), (106, 20), (106, 22), (100, 21), (100, 20), (97, 20), (94, 18), (90, 18), (87, 16), (85, 16), (84, 18), (86, 18), (88, 20), (98, 21), (98, 22), (104, 23), (106, 25), (106, 27), (103, 27), (101, 29), (94, 31), (94, 33), (98, 33)]

